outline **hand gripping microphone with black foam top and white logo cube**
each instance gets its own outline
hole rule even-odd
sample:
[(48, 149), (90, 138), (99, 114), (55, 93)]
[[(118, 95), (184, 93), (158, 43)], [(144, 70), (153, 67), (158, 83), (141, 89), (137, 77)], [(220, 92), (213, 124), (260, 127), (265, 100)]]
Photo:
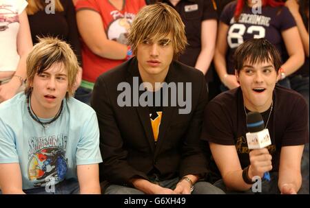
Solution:
[(247, 146), (252, 150), (249, 153), (249, 159), (251, 162), (249, 175), (260, 176), (267, 181), (270, 181), (269, 170), (272, 169), (272, 157), (265, 147), (271, 145), (271, 139), (268, 129), (264, 128), (264, 121), (260, 113), (247, 113), (247, 128), (249, 130), (246, 134)]

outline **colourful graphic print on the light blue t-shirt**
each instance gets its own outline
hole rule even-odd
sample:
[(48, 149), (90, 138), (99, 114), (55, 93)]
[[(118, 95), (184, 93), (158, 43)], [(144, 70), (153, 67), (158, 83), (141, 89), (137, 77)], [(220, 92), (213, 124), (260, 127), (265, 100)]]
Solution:
[(45, 186), (52, 179), (55, 184), (63, 181), (68, 171), (68, 159), (65, 157), (67, 137), (32, 137), (28, 143), (28, 178), (34, 187)]

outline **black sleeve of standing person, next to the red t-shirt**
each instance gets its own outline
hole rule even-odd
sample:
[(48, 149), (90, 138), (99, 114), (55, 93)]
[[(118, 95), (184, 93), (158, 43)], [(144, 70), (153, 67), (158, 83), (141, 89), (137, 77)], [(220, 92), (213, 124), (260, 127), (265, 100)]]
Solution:
[[(64, 1), (63, 1), (64, 2)], [(79, 65), (82, 66), (82, 58), (81, 58), (81, 43), (79, 40), (79, 30), (76, 25), (76, 14), (74, 10), (74, 5), (72, 1), (66, 0), (63, 5), (66, 5), (65, 18), (68, 23), (68, 43), (71, 45), (74, 54), (76, 55), (77, 60), (79, 61)]]

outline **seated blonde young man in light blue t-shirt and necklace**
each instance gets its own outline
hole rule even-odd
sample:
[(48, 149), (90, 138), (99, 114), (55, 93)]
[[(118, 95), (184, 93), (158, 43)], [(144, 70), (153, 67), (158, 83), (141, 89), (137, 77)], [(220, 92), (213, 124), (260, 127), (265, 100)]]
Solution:
[(100, 194), (99, 128), (75, 100), (79, 65), (70, 46), (43, 38), (27, 58), (25, 93), (0, 104), (3, 194)]

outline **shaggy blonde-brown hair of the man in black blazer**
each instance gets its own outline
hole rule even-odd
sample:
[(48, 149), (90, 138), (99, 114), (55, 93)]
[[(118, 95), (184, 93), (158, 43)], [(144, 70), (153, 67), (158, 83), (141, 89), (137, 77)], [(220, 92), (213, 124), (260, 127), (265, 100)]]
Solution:
[(138, 44), (149, 39), (158, 40), (170, 34), (172, 35), (174, 58), (176, 58), (183, 53), (187, 46), (185, 25), (174, 8), (166, 3), (155, 3), (144, 6), (138, 12), (130, 27), (128, 43), (136, 55)]

